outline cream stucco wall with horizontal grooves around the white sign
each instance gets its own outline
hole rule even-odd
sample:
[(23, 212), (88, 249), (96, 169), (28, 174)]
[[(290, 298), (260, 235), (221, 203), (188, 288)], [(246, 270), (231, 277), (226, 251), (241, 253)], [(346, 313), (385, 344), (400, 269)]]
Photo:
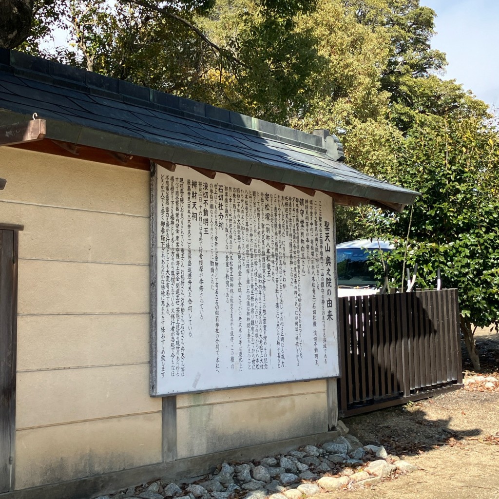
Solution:
[[(5, 147), (0, 164), (0, 222), (24, 225), (15, 488), (160, 462), (149, 173)], [(324, 381), (177, 402), (179, 458), (327, 430)]]

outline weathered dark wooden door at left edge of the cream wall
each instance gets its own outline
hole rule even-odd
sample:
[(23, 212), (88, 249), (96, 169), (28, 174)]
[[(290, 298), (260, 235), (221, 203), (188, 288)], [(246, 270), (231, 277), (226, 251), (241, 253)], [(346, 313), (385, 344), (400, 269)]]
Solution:
[(15, 431), (17, 231), (0, 226), (0, 493), (12, 489)]

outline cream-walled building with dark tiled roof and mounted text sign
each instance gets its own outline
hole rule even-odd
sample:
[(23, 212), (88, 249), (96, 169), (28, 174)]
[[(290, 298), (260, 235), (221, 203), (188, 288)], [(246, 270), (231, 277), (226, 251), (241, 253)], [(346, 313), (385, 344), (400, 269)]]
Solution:
[[(0, 145), (0, 177), (6, 180), (0, 191), (0, 498), (89, 497), (152, 477), (189, 476), (231, 456), (297, 445), (303, 437), (330, 438), (339, 374), (334, 204), (402, 210), (417, 193), (346, 166), (341, 145), (325, 131), (305, 134), (14, 51), (0, 52)], [(213, 208), (207, 217), (197, 211), (202, 221), (194, 221), (193, 183), (197, 189), (202, 182), (207, 190), (201, 186), (196, 196), (208, 193)], [(215, 225), (216, 189), (222, 187), (220, 210), (233, 214), (231, 230)], [(184, 188), (190, 198), (182, 197)], [(242, 196), (256, 208), (238, 252), (235, 227), (246, 224), (237, 205), (245, 203)], [(301, 201), (308, 207), (306, 222), (298, 215)], [(275, 248), (266, 254), (267, 229), (260, 221), (268, 215), (280, 224), (280, 212), (271, 211), (278, 208), (283, 220), (297, 218), (295, 225), (283, 223), (280, 235), (276, 225), (269, 229)], [(168, 210), (185, 217), (183, 228), (191, 224), (199, 232), (204, 263), (198, 254), (188, 267), (188, 252), (200, 248), (162, 235)], [(169, 227), (175, 238), (179, 233)], [(306, 231), (311, 239), (317, 227), (331, 244), (321, 240), (320, 248), (313, 243), (298, 254)], [(184, 229), (180, 234), (187, 238)], [(214, 250), (219, 237), (226, 246)], [(291, 244), (288, 258), (279, 248), (289, 241), (298, 248)], [(224, 250), (231, 253), (232, 263), (218, 261), (219, 250), (220, 258)], [(253, 258), (253, 250), (259, 256)], [(327, 283), (324, 251), (332, 258)], [(224, 280), (224, 272), (237, 271), (238, 258), (247, 269), (239, 292)], [(186, 265), (184, 277), (167, 278), (174, 264)], [(198, 284), (212, 279), (215, 286), (204, 294), (212, 300), (206, 320), (199, 311), (201, 291), (189, 291), (186, 268)], [(268, 286), (288, 278), (296, 289), (304, 272), (306, 285), (290, 295), (291, 303), (282, 293), (276, 298), (278, 289), (265, 290), (266, 303), (285, 302), (289, 317), (271, 315), (271, 307), (257, 301), (259, 272)], [(307, 275), (317, 279), (311, 286)], [(182, 291), (168, 288), (172, 282)], [(190, 292), (198, 309), (189, 325), (187, 309), (175, 311), (172, 300), (183, 296), (187, 303)], [(230, 304), (239, 298), (243, 312)], [(309, 326), (312, 308), (323, 334)], [(242, 317), (250, 309), (253, 316)], [(265, 314), (268, 323), (261, 319)], [(166, 346), (162, 320), (176, 335), (167, 335)], [(288, 320), (292, 335), (284, 331)], [(286, 360), (279, 371), (272, 364), (277, 355), (270, 335), (281, 348), (279, 328), (286, 357), (296, 353), (301, 367)], [(188, 344), (190, 334), (195, 339)], [(319, 338), (315, 348), (328, 354), (321, 366), (305, 362), (317, 354), (313, 335)], [(196, 354), (189, 360), (186, 353), (185, 364), (179, 344)], [(260, 346), (253, 351), (253, 345)], [(246, 374), (227, 374), (232, 357), (241, 355), (245, 367), (239, 370)], [(199, 372), (191, 372), (196, 363)], [(183, 367), (191, 377), (173, 388), (164, 374), (181, 379)], [(213, 376), (206, 380), (208, 372)]]

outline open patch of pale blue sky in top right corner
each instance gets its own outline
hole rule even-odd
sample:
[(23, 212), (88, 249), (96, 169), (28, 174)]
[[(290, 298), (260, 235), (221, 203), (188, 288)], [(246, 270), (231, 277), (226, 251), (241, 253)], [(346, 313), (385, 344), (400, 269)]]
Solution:
[(437, 13), (432, 48), (447, 54), (443, 76), (499, 107), (499, 1), (420, 0)]

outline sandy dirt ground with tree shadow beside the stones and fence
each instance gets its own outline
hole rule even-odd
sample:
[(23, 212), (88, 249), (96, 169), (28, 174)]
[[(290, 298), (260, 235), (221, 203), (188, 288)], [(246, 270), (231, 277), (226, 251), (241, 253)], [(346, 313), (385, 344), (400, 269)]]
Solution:
[[(476, 339), (482, 369), (473, 372), (465, 355), (465, 378), (499, 379), (499, 335), (484, 330)], [(499, 499), (499, 392), (461, 389), (343, 421), (361, 442), (383, 445), (419, 470), (318, 498)]]

